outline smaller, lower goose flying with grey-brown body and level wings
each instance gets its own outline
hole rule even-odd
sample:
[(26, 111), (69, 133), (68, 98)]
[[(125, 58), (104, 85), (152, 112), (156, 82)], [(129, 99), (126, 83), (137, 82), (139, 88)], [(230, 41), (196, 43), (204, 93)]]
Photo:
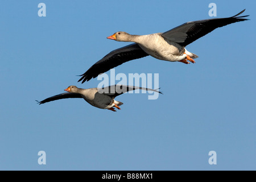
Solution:
[(52, 96), (49, 98), (46, 98), (43, 101), (37, 101), (38, 104), (44, 104), (46, 102), (56, 101), (63, 98), (84, 98), (86, 102), (88, 102), (90, 105), (94, 107), (98, 107), (100, 109), (108, 109), (112, 111), (116, 111), (114, 107), (117, 109), (121, 109), (119, 106), (121, 106), (123, 103), (119, 101), (115, 101), (114, 98), (129, 92), (131, 90), (150, 90), (154, 92), (158, 92), (160, 94), (163, 94), (162, 92), (158, 91), (158, 89), (149, 89), (149, 88), (143, 88), (138, 86), (126, 86), (126, 85), (112, 85), (112, 86), (106, 86), (105, 88), (90, 88), (90, 89), (81, 89), (77, 88), (77, 86), (71, 85), (68, 86), (65, 93), (57, 94), (56, 96)]

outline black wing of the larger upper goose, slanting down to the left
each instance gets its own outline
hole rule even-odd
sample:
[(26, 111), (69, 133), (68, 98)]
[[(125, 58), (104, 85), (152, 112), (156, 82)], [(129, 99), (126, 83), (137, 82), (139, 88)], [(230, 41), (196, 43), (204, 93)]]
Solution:
[(80, 75), (82, 77), (79, 81), (82, 81), (82, 83), (89, 81), (101, 73), (105, 73), (110, 69), (117, 67), (118, 65), (145, 56), (148, 56), (148, 54), (136, 43), (115, 49), (108, 53), (108, 55), (104, 56), (100, 61), (92, 65), (92, 67), (90, 67), (84, 74)]

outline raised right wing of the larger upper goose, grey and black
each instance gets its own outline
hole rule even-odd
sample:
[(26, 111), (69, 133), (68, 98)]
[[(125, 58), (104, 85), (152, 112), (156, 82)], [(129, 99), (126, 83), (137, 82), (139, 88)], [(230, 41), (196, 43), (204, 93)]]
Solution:
[(164, 32), (162, 36), (185, 47), (188, 44), (194, 42), (195, 40), (201, 38), (202, 36), (207, 35), (209, 32), (213, 31), (218, 27), (223, 27), (231, 23), (248, 20), (245, 19), (245, 17), (249, 15), (238, 16), (242, 14), (243, 11), (245, 10), (242, 10), (237, 15), (229, 18), (213, 18), (198, 20), (194, 22), (187, 22), (173, 28), (172, 30)]

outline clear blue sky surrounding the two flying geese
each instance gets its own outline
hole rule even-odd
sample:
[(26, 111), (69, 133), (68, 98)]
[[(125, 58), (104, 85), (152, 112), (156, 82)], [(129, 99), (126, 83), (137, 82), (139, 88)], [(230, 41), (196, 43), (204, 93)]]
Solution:
[[(46, 17), (38, 4), (46, 4)], [(81, 84), (80, 75), (115, 48), (116, 31), (164, 32), (246, 9), (249, 21), (217, 28), (188, 51), (196, 64), (153, 57), (115, 73), (159, 73), (163, 91), (123, 94), (112, 112), (81, 99), (36, 104)], [(255, 170), (254, 1), (5, 1), (0, 6), (1, 170)], [(108, 74), (110, 72), (107, 72)], [(138, 86), (138, 85), (137, 85)], [(46, 152), (46, 165), (38, 152)], [(217, 164), (210, 165), (209, 151)]]

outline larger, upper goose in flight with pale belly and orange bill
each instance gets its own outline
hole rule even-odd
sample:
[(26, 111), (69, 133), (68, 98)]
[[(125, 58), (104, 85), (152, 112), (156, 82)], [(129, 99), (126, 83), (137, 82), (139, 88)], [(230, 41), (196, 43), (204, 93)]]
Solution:
[(245, 19), (245, 17), (249, 15), (238, 16), (242, 14), (243, 11), (245, 10), (229, 18), (213, 18), (187, 22), (164, 33), (130, 35), (123, 31), (115, 32), (115, 34), (107, 38), (110, 40), (134, 43), (108, 53), (97, 63), (92, 65), (84, 74), (79, 75), (81, 76), (79, 81), (84, 83), (127, 61), (148, 55), (164, 61), (179, 61), (185, 64), (189, 64), (188, 61), (190, 61), (191, 63), (195, 63), (193, 59), (196, 59), (198, 56), (185, 49), (185, 46), (207, 35), (218, 27), (248, 20)]

